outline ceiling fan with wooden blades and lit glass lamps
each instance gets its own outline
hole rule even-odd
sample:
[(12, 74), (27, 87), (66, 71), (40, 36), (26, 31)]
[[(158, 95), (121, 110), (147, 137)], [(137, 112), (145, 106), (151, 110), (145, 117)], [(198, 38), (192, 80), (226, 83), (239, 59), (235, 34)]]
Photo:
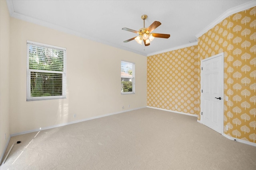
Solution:
[(135, 31), (135, 30), (129, 29), (129, 28), (122, 28), (125, 31), (130, 31), (130, 32), (139, 34), (136, 37), (133, 37), (131, 39), (124, 41), (124, 43), (127, 43), (127, 42), (135, 39), (135, 41), (137, 41), (137, 43), (142, 44), (142, 41), (144, 41), (144, 45), (148, 46), (148, 45), (150, 45), (150, 42), (153, 41), (153, 39), (155, 37), (158, 37), (158, 38), (169, 38), (170, 37), (170, 34), (151, 33), (154, 29), (156, 29), (159, 25), (161, 25), (161, 23), (159, 21), (154, 21), (149, 27), (145, 28), (145, 20), (148, 18), (148, 16), (144, 14), (141, 16), (141, 18), (144, 22), (144, 27), (141, 28), (139, 31)]

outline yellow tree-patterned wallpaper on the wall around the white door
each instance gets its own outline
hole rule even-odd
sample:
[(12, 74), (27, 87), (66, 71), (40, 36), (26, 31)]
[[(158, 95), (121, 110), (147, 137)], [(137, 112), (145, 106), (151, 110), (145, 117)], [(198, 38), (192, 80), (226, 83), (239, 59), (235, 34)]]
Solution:
[(224, 52), (224, 127), (256, 143), (256, 7), (230, 15), (198, 38), (200, 60)]

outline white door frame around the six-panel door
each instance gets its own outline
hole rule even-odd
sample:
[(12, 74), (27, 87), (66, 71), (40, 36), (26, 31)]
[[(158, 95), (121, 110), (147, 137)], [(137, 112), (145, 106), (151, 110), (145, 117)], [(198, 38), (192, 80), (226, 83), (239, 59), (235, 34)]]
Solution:
[(202, 93), (202, 63), (204, 62), (204, 61), (207, 61), (207, 60), (210, 60), (210, 59), (214, 59), (214, 58), (216, 58), (216, 57), (221, 57), (221, 68), (222, 68), (222, 77), (220, 78), (220, 81), (222, 82), (222, 88), (221, 88), (221, 98), (223, 99), (222, 100), (222, 102), (221, 102), (221, 110), (222, 110), (222, 112), (221, 112), (221, 121), (222, 121), (222, 124), (221, 124), (221, 135), (223, 135), (224, 134), (224, 52), (222, 52), (222, 53), (219, 53), (219, 54), (217, 54), (217, 55), (214, 55), (214, 56), (212, 56), (212, 57), (208, 57), (208, 58), (206, 58), (206, 59), (203, 59), (203, 60), (201, 60), (201, 63), (200, 63), (200, 123), (202, 123), (202, 124), (204, 124), (204, 120), (202, 119), (202, 108), (203, 108), (203, 102), (202, 102), (202, 96), (203, 96), (203, 93)]

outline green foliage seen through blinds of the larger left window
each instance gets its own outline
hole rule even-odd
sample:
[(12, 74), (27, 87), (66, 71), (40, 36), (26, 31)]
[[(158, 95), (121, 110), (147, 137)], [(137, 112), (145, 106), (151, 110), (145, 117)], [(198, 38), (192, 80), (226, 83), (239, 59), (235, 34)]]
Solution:
[(62, 95), (63, 59), (62, 50), (29, 45), (31, 97)]

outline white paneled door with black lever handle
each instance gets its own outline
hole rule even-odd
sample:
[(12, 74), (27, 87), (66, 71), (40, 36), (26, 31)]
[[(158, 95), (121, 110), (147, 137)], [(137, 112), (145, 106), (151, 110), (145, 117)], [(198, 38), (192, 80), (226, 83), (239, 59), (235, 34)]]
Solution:
[(201, 61), (201, 121), (223, 133), (224, 53)]

